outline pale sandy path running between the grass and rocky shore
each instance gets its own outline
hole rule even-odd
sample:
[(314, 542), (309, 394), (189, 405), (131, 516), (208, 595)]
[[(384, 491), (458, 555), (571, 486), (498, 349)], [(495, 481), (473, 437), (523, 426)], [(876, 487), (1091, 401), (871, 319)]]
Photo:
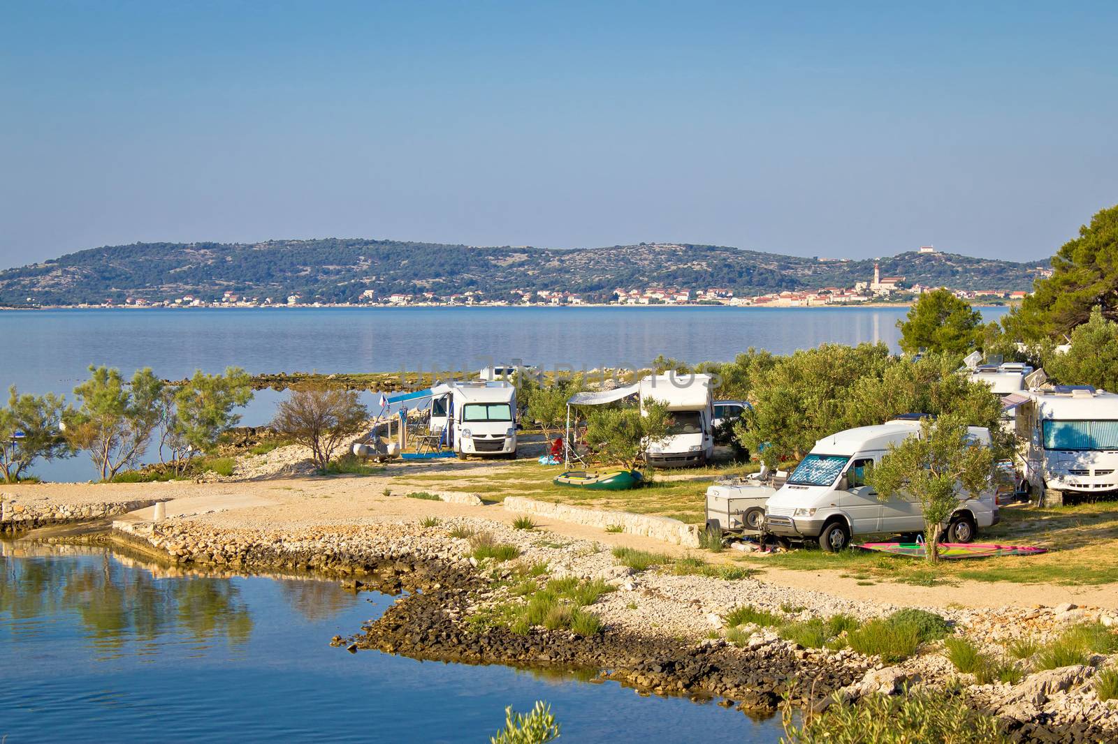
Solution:
[[(489, 464), (457, 464), (471, 474), (484, 473), (500, 466)], [(421, 471), (409, 468), (410, 473)], [(479, 517), (511, 524), (519, 516), (501, 505), (467, 506), (443, 502), (407, 498), (411, 487), (394, 481), (394, 468), (383, 476), (369, 477), (302, 477), (239, 483), (193, 484), (186, 481), (146, 484), (41, 484), (6, 486), (3, 492), (17, 499), (34, 503), (42, 499), (56, 505), (82, 505), (136, 499), (181, 499), (176, 513), (197, 513), (186, 518), (203, 521), (215, 526), (254, 528), (297, 528), (319, 525), (376, 524), (386, 521), (420, 519), (425, 516)], [(453, 475), (447, 478), (453, 481)], [(385, 489), (397, 494), (386, 496)], [(191, 502), (195, 502), (191, 508)], [(229, 508), (227, 508), (229, 507)], [(533, 517), (538, 530), (556, 535), (597, 541), (604, 545), (624, 545), (642, 550), (683, 555), (688, 549), (669, 545), (639, 535), (607, 533), (597, 527)], [(733, 562), (738, 553), (726, 551), (712, 555), (703, 553), (711, 562)], [(740, 563), (733, 563), (741, 565)], [(768, 583), (809, 589), (856, 601), (890, 602), (922, 607), (1025, 607), (1054, 605), (1073, 602), (1081, 605), (1118, 609), (1118, 592), (1111, 584), (1093, 586), (1062, 586), (1057, 584), (1017, 584), (1008, 582), (959, 581), (950, 586), (915, 586), (879, 582), (862, 585), (858, 580), (843, 578), (841, 571), (792, 571), (760, 567), (759, 579)]]

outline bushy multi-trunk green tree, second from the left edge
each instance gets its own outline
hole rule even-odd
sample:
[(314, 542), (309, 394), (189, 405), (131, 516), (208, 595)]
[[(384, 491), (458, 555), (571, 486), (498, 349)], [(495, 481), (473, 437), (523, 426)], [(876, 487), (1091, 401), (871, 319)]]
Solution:
[(127, 382), (120, 370), (89, 366), (89, 379), (74, 389), (78, 407), (67, 416), (66, 438), (89, 452), (103, 480), (134, 467), (159, 423), (163, 382), (150, 368)]

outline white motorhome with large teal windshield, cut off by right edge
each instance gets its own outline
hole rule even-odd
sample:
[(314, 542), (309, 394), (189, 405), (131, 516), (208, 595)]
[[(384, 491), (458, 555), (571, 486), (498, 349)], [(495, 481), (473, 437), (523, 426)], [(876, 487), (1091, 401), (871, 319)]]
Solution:
[(1024, 395), (1016, 419), (1024, 476), (1043, 503), (1118, 490), (1118, 395), (1090, 385)]

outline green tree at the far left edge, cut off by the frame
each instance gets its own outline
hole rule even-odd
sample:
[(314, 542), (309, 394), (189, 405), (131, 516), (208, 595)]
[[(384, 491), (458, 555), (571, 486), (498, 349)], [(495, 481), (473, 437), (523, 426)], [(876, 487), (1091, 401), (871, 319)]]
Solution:
[(51, 460), (70, 454), (60, 435), (65, 400), (53, 393), (20, 395), (8, 389), (8, 406), (0, 406), (0, 475), (16, 483), (36, 458)]

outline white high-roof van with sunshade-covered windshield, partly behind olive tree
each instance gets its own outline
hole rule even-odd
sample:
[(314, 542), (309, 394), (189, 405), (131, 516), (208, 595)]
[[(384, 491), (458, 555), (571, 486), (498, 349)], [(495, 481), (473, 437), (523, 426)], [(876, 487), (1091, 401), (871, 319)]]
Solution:
[[(920, 422), (897, 419), (881, 426), (847, 429), (815, 442), (811, 454), (788, 476), (765, 506), (765, 528), (783, 537), (816, 540), (837, 552), (853, 535), (923, 531), (920, 505), (893, 496), (882, 502), (865, 484), (865, 466), (880, 462), (889, 445), (920, 433)], [(970, 427), (972, 437), (989, 443), (989, 431)], [(980, 527), (998, 522), (993, 483), (980, 498), (959, 493), (959, 507), (947, 521), (944, 542), (969, 543)]]

